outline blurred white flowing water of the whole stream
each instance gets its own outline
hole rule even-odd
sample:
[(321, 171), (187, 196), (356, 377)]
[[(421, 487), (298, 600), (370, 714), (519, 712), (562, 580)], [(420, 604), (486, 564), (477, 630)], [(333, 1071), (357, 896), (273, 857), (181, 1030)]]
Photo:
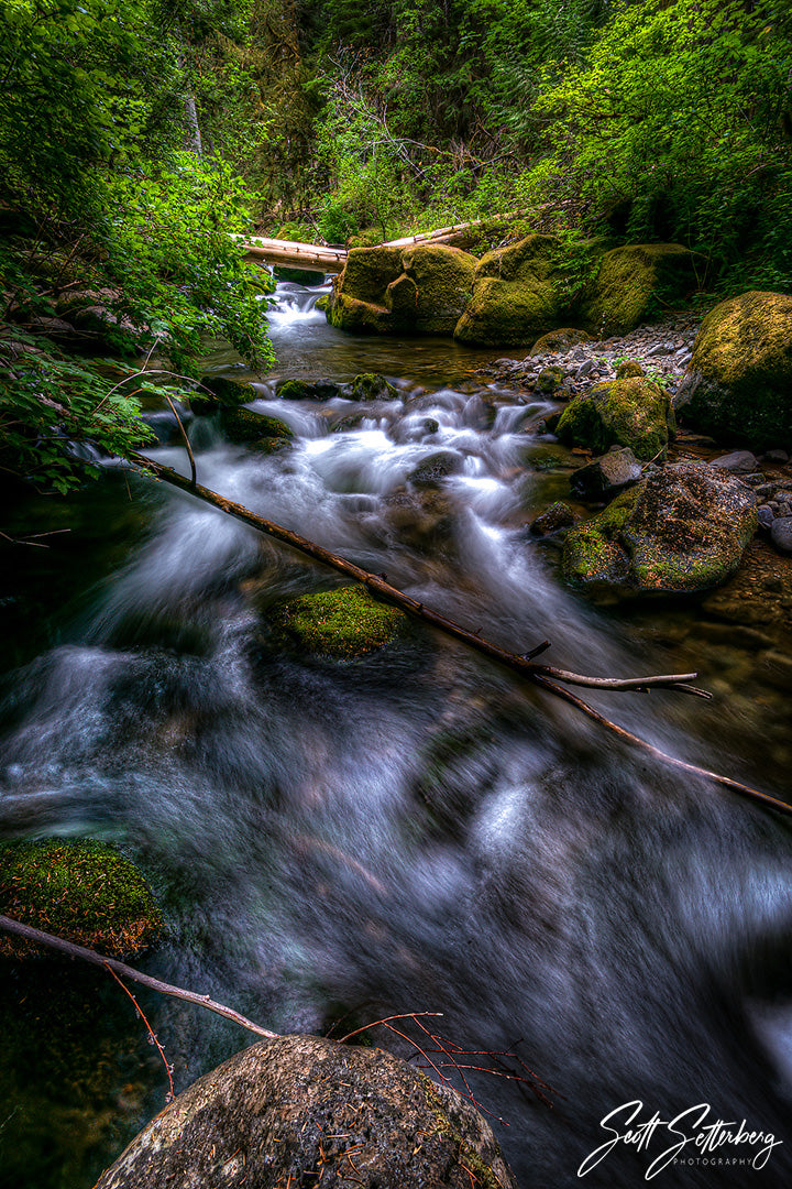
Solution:
[[(695, 611), (591, 609), (528, 535), (532, 511), (568, 491), (569, 455), (532, 428), (547, 405), (475, 380), (487, 353), (332, 331), (315, 297), (280, 287), (274, 376), (381, 371), (399, 398), (284, 402), (273, 376), (252, 407), (286, 421), (294, 448), (259, 454), (196, 419), (199, 482), (517, 652), (546, 637), (552, 663), (609, 675), (703, 655), (714, 704), (589, 700), (785, 797), (786, 702), (750, 684), (745, 656), (708, 652)], [(209, 366), (246, 375), (223, 352)], [(184, 471), (167, 417), (152, 421), (153, 457)], [(439, 486), (411, 480), (439, 449)], [(425, 1024), (479, 1055), (458, 1063), (490, 1070), (468, 1078), (524, 1189), (577, 1184), (588, 1153), (655, 1112), (653, 1133), (615, 1143), (583, 1182), (640, 1184), (677, 1144), (684, 1163), (660, 1184), (792, 1183), (785, 822), (427, 633), (354, 665), (285, 654), (272, 608), (337, 577), (189, 496), (116, 471), (53, 515), (19, 512), (27, 531), (71, 530), (53, 543), (71, 568), (47, 579), (53, 562), (27, 560), (17, 611), (6, 599), (13, 634), (38, 635), (7, 641), (20, 667), (6, 681), (0, 829), (133, 855), (170, 923), (147, 970), (281, 1032), (442, 1012)], [(24, 994), (18, 973), (4, 976), (4, 1185), (88, 1189), (164, 1101), (164, 1069), (118, 988), (91, 971), (74, 989), (56, 969)], [(139, 998), (177, 1089), (251, 1040)], [(414, 1056), (384, 1030), (378, 1043)], [(503, 1076), (526, 1067), (552, 1087), (544, 1097)], [(697, 1145), (718, 1119), (765, 1139)]]

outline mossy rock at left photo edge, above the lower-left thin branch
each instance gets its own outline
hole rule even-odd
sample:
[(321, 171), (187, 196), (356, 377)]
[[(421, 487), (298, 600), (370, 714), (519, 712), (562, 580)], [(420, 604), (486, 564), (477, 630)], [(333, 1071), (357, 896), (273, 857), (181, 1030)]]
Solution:
[[(43, 838), (0, 847), (0, 912), (110, 957), (138, 954), (163, 929), (148, 885), (114, 847)], [(4, 935), (0, 955), (42, 952)], [(49, 951), (47, 951), (49, 952)]]

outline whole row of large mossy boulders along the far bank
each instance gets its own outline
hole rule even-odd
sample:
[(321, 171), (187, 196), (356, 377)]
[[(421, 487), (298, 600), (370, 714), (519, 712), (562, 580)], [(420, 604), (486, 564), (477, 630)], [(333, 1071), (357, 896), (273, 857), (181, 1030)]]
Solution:
[(454, 334), (484, 346), (530, 347), (560, 331), (569, 345), (582, 331), (633, 329), (660, 291), (692, 282), (693, 253), (679, 244), (607, 247), (590, 240), (571, 253), (557, 235), (532, 234), (480, 260), (438, 244), (353, 249), (328, 320), (346, 331)]

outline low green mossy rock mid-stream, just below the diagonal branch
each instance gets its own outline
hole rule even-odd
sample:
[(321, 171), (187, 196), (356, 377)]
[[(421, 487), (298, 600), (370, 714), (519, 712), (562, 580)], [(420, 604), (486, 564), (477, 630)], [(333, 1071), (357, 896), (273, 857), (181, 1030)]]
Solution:
[(299, 652), (334, 661), (367, 656), (413, 630), (403, 611), (372, 598), (362, 586), (290, 599), (274, 612), (272, 627)]

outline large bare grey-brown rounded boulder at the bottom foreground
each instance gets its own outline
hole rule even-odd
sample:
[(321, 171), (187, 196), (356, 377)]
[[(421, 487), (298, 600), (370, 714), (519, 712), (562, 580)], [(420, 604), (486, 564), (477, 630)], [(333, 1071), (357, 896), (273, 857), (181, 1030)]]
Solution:
[(473, 1105), (380, 1049), (278, 1037), (180, 1094), (96, 1189), (515, 1189)]

